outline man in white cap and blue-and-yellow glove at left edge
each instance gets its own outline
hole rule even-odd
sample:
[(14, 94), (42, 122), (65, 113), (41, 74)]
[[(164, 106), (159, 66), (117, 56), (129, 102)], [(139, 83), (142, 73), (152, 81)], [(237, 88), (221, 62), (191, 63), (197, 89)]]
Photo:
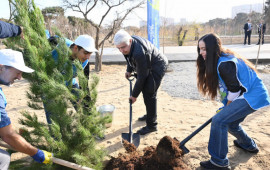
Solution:
[[(11, 85), (15, 80), (22, 78), (22, 72), (32, 73), (33, 69), (25, 66), (21, 52), (11, 49), (0, 50), (0, 84)], [(15, 132), (10, 118), (6, 112), (7, 100), (0, 88), (0, 137), (16, 151), (28, 154), (39, 163), (50, 163), (52, 153), (40, 150), (28, 143), (22, 136)], [(0, 149), (0, 169), (8, 169), (10, 155)]]

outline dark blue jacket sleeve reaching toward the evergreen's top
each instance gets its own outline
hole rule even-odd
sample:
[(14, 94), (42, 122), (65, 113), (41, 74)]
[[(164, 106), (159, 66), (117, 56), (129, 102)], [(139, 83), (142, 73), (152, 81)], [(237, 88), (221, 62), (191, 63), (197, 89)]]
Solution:
[(22, 32), (21, 27), (0, 21), (0, 38), (15, 37)]

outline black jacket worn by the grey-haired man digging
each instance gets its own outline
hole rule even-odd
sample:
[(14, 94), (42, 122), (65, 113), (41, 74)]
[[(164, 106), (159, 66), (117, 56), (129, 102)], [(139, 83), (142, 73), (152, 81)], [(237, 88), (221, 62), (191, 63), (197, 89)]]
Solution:
[(165, 74), (168, 59), (165, 55), (148, 40), (132, 36), (132, 44), (129, 55), (125, 55), (127, 60), (127, 72), (135, 71), (137, 73), (137, 81), (132, 92), (133, 97), (138, 97), (142, 91), (145, 80), (149, 75), (146, 51), (151, 54), (151, 70), (154, 77), (162, 79)]

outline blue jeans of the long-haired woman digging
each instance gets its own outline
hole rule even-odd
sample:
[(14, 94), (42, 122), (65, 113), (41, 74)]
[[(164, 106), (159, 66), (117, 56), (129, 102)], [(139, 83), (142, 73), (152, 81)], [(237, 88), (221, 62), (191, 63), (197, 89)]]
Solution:
[(250, 150), (257, 147), (240, 125), (246, 116), (254, 111), (245, 99), (237, 99), (212, 118), (208, 151), (213, 164), (229, 165), (228, 132), (237, 138), (241, 146), (246, 146)]

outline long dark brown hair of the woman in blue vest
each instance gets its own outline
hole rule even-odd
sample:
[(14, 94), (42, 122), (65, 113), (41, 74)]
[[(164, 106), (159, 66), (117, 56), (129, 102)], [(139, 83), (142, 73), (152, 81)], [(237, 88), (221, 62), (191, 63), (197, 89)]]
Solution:
[[(204, 60), (200, 54), (199, 42), (203, 41), (206, 47), (206, 59)], [(204, 96), (209, 96), (214, 99), (217, 96), (219, 88), (217, 64), (218, 59), (222, 53), (231, 54), (235, 57), (243, 60), (251, 69), (255, 70), (254, 65), (247, 59), (241, 57), (237, 53), (225, 49), (221, 45), (221, 40), (216, 34), (206, 34), (198, 41), (197, 46), (198, 58), (197, 58), (197, 86), (199, 91)]]

